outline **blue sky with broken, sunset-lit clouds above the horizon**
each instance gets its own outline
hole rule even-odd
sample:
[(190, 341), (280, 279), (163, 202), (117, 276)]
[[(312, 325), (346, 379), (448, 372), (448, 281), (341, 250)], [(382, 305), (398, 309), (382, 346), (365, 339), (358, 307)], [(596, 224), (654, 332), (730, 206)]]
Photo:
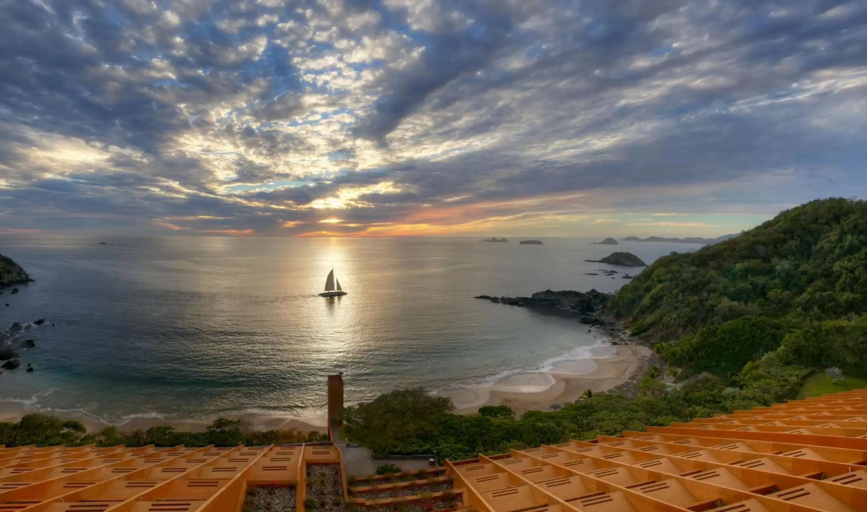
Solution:
[(0, 0), (0, 236), (719, 236), (865, 141), (867, 0)]

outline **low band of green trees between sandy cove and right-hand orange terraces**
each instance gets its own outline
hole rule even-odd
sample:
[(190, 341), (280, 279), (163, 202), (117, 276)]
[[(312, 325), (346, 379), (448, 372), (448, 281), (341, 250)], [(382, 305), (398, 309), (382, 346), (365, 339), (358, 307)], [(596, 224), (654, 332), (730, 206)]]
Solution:
[(342, 435), (375, 455), (433, 453), (460, 460), (769, 405), (798, 392), (809, 372), (762, 360), (738, 380), (700, 379), (681, 389), (665, 386), (655, 373), (642, 378), (637, 396), (597, 393), (557, 411), (525, 412), (520, 418), (503, 405), (483, 407), (473, 416), (454, 414), (450, 399), (423, 389), (399, 390), (347, 408)]

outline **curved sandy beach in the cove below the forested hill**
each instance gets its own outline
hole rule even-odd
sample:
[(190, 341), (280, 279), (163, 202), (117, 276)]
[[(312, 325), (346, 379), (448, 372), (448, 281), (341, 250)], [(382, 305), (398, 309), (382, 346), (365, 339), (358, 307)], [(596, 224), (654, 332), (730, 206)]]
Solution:
[(544, 372), (518, 373), (491, 386), (451, 389), (456, 412), (472, 414), (485, 405), (508, 405), (516, 412), (551, 411), (551, 405), (574, 402), (583, 392), (604, 392), (627, 382), (653, 353), (641, 345), (592, 349), (590, 358), (566, 360)]

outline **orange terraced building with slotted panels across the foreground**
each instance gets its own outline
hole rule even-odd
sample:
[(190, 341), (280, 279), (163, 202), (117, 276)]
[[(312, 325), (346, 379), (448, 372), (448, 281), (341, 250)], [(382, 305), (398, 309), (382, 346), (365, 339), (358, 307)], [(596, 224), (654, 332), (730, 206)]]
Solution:
[[(351, 487), (333, 444), (3, 448), (0, 511), (238, 512), (286, 489), (297, 512), (849, 512), (867, 511), (865, 466), (867, 391), (853, 391)], [(310, 499), (321, 467), (333, 502)]]

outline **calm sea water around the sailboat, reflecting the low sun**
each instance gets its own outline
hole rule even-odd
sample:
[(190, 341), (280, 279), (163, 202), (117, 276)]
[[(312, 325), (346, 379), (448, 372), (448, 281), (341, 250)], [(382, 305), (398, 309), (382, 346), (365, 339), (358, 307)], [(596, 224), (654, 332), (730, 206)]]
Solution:
[[(120, 422), (322, 414), (325, 376), (347, 399), (407, 386), (492, 381), (599, 343), (576, 321), (473, 299), (545, 288), (615, 291), (584, 275), (629, 250), (651, 262), (674, 243), (544, 245), (473, 238), (166, 237), (0, 239), (35, 283), (0, 295), (0, 325), (45, 318), (0, 400)], [(122, 244), (122, 246), (120, 245)], [(332, 264), (349, 295), (323, 299)], [(10, 307), (2, 305), (10, 303)]]

